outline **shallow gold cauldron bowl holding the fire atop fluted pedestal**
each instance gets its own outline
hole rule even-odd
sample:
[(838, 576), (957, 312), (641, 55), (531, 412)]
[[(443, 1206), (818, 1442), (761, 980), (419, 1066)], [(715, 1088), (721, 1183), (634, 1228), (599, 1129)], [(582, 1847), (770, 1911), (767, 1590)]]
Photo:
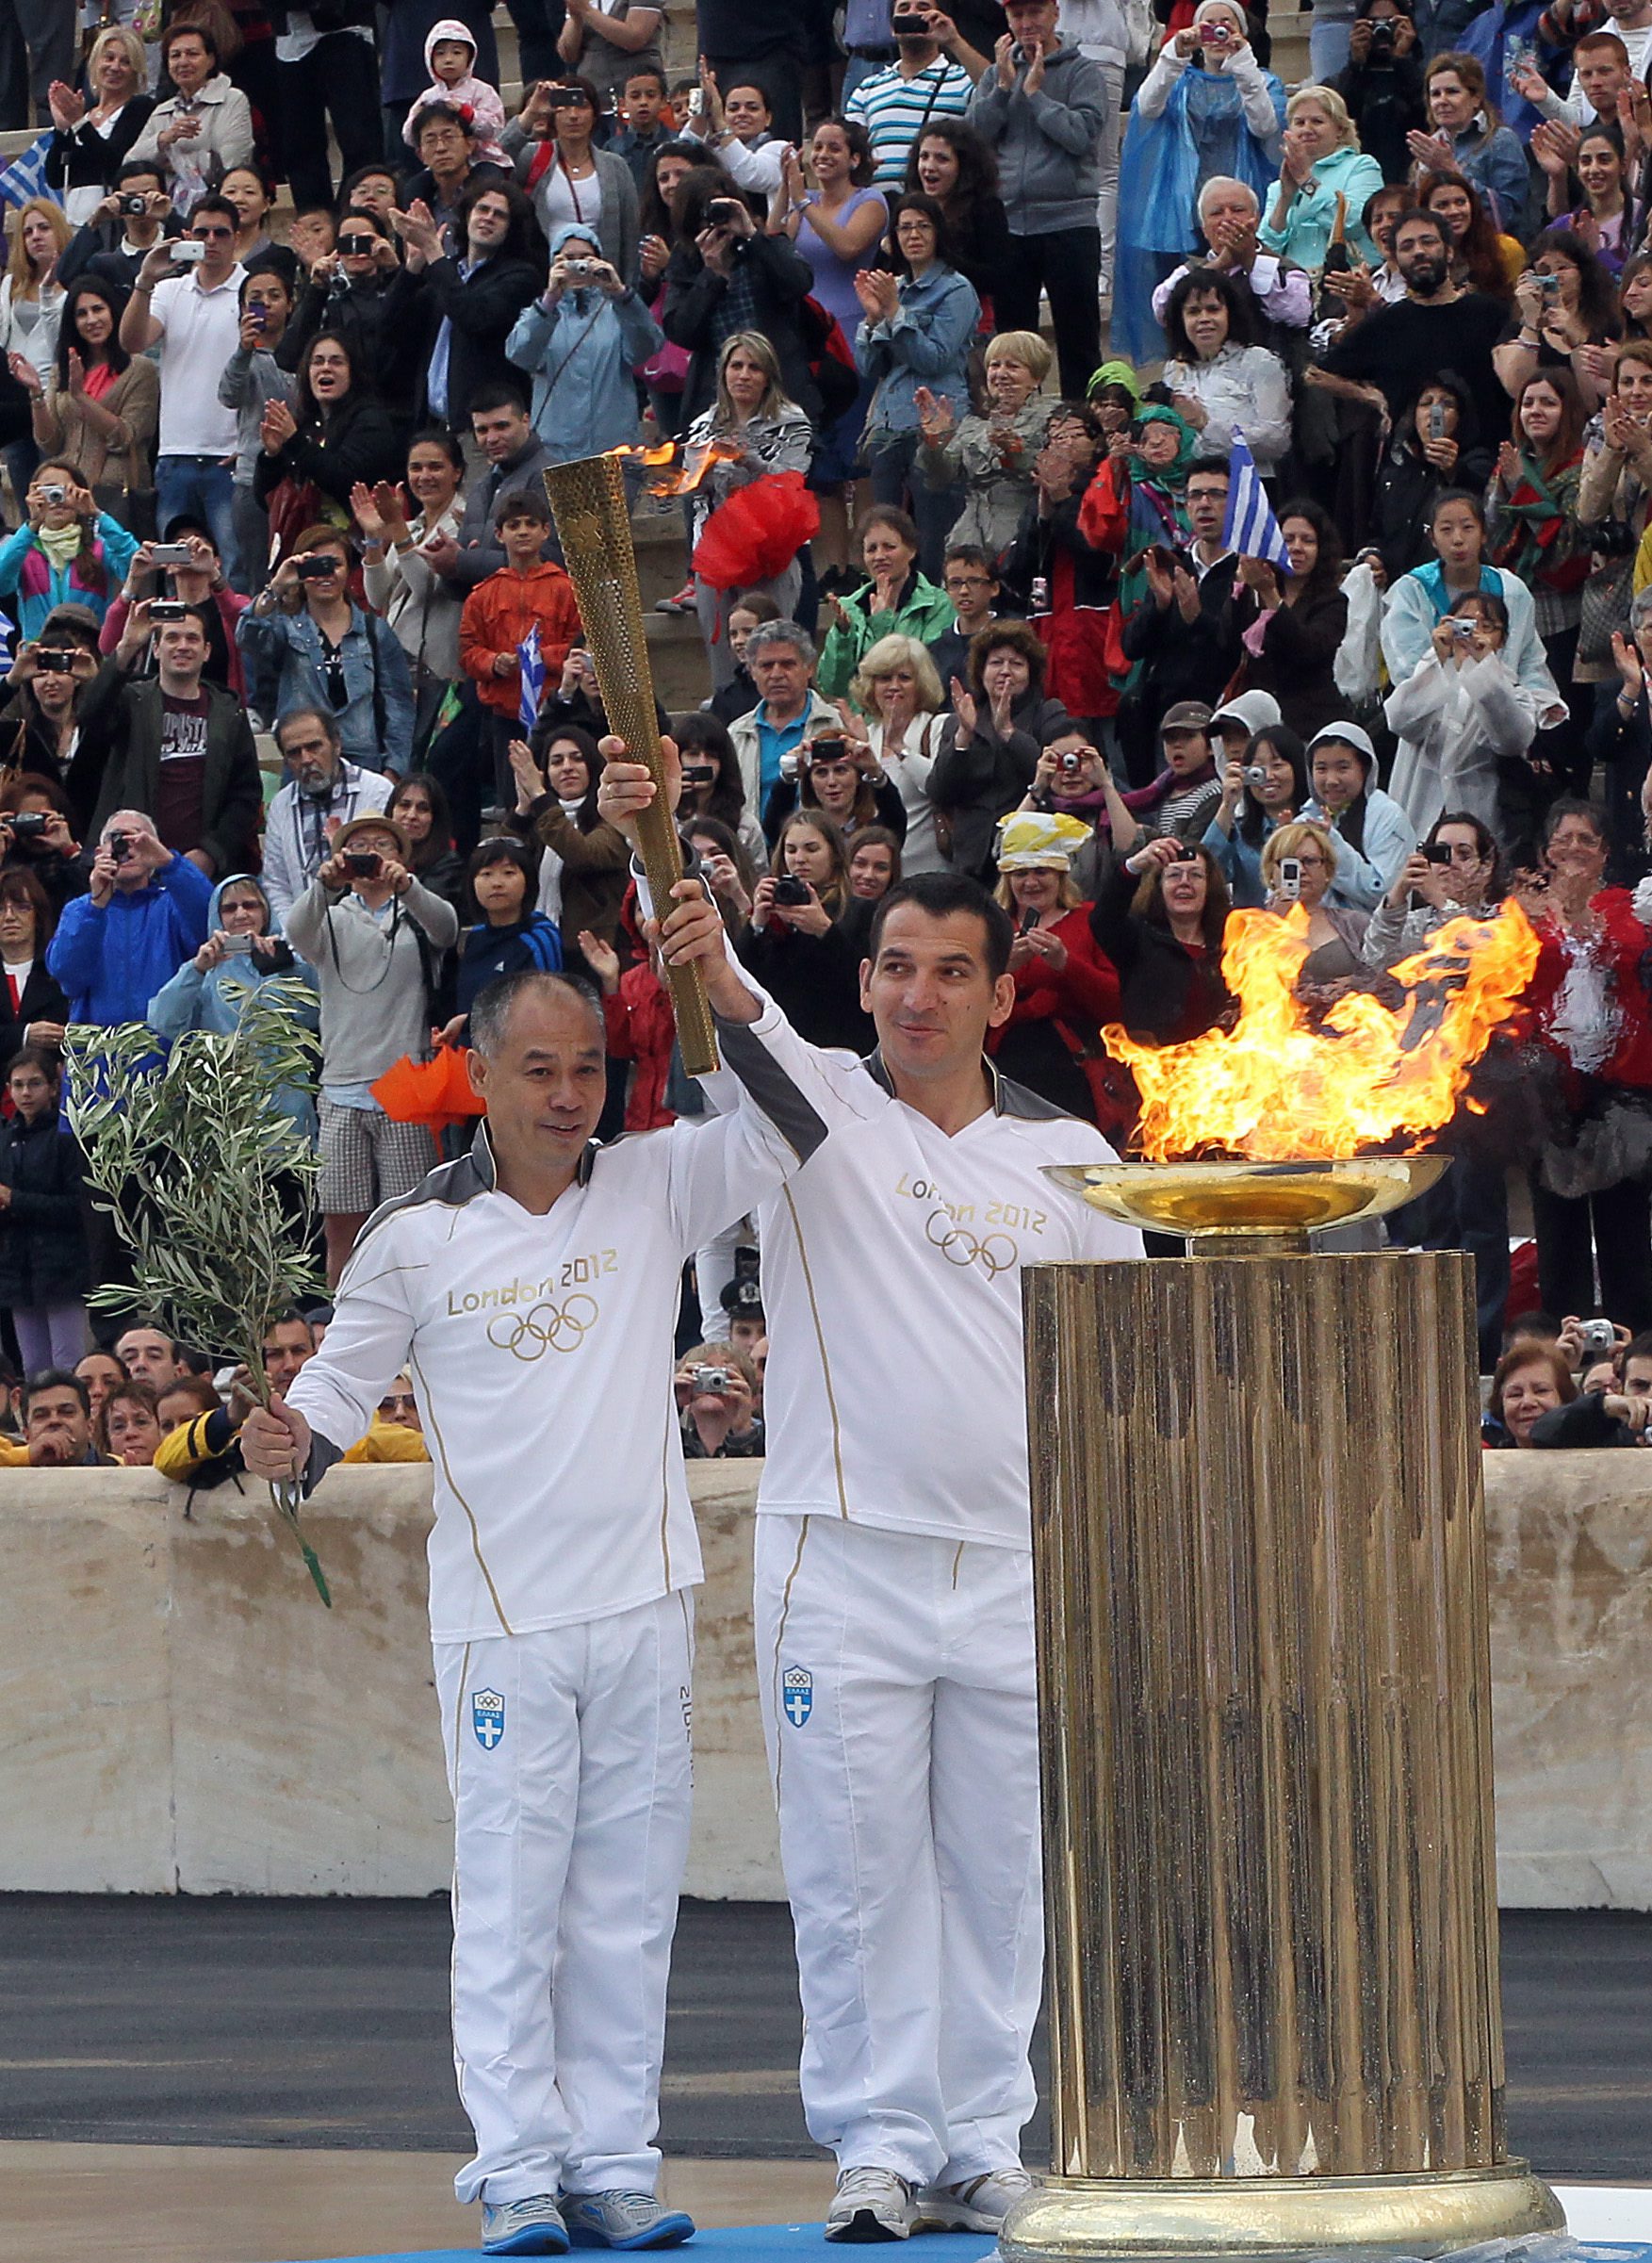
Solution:
[(1448, 1154), (1333, 1163), (1046, 1163), (1046, 1179), (1147, 1233), (1206, 1256), (1308, 1256), (1308, 1236), (1383, 1217), (1437, 1186)]

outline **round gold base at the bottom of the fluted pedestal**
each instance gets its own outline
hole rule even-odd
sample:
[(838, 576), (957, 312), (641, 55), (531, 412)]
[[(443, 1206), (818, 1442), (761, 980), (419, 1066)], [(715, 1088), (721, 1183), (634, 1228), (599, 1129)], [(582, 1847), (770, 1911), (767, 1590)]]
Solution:
[(1564, 2231), (1525, 2161), (1421, 2177), (1050, 2177), (1016, 2202), (1003, 2263), (1193, 2263), (1195, 2256), (1444, 2256)]

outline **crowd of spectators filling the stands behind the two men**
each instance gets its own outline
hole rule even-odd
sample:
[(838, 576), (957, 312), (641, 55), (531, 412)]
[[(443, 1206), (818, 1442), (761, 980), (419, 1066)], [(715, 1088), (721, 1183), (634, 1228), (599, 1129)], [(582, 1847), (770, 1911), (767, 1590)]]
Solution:
[[(317, 1086), (269, 1104), (330, 1279), (437, 1154), (378, 1082), (491, 975), (602, 993), (604, 1134), (699, 1104), (541, 480), (661, 439), (711, 444), (663, 507), (679, 821), (808, 1036), (871, 1043), (871, 907), (950, 867), (1018, 928), (998, 1066), (1127, 1143), (1100, 1032), (1231, 1016), (1233, 910), (1303, 926), (1322, 1016), (1514, 898), (1537, 973), (1394, 1233), (1473, 1251), (1487, 1369), (1521, 1181), (1514, 1301), (1652, 1328), (1652, 11), (1324, 5), (1285, 86), (1240, 0), (699, 0), (681, 77), (661, 7), (509, 5), (520, 95), (480, 0), (106, 0), (0, 84), (45, 136), (0, 281), (25, 1439), (190, 1435), (204, 1482), (233, 1405), (77, 1371), (120, 1258), (75, 1023), (163, 1048), (296, 982)], [(699, 1453), (763, 1437), (724, 1283), (733, 1240), (683, 1322)]]

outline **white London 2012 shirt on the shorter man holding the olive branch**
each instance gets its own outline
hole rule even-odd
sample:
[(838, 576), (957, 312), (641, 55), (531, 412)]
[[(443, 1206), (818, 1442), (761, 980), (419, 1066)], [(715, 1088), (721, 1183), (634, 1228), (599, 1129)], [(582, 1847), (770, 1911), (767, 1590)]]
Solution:
[(432, 1641), (611, 1618), (699, 1582), (672, 1394), (683, 1258), (824, 1138), (788, 1073), (812, 1077), (806, 1052), (767, 1014), (749, 1095), (706, 1079), (733, 1113), (586, 1150), (543, 1217), (498, 1188), (482, 1127), (369, 1220), (287, 1396), (317, 1432), (315, 1482), (412, 1376), (434, 1462)]

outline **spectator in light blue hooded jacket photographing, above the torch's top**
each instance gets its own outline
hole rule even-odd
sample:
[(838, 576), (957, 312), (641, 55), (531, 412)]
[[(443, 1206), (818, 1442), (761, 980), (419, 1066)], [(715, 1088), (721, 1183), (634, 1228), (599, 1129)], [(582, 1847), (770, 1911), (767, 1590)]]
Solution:
[[(595, 260), (591, 276), (575, 260)], [(550, 244), (550, 278), (505, 339), (505, 360), (534, 380), (532, 419), (552, 464), (636, 441), (636, 371), (665, 344), (649, 310), (602, 258), (591, 222)]]

